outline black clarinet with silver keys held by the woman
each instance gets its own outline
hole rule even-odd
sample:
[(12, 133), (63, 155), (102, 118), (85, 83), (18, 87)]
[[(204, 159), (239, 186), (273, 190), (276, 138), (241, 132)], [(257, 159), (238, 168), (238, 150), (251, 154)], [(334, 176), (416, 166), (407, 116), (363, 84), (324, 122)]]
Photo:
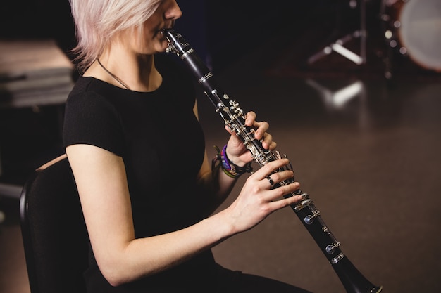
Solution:
[[(245, 125), (245, 114), (239, 103), (231, 100), (227, 93), (222, 91), (216, 84), (213, 73), (201, 61), (190, 44), (185, 41), (181, 34), (173, 29), (162, 31), (168, 41), (167, 53), (175, 53), (190, 68), (199, 86), (204, 90), (205, 95), (211, 100), (216, 112), (223, 118), (225, 125), (240, 137), (244, 145), (251, 152), (254, 162), (263, 167), (268, 162), (280, 159), (282, 156), (278, 151), (266, 150), (262, 147), (261, 141), (254, 138), (254, 129)], [(286, 155), (283, 155), (286, 157)], [(291, 164), (282, 167), (277, 171), (292, 170)], [(287, 185), (294, 182), (294, 178), (278, 183)], [(276, 185), (277, 186), (277, 185)], [(296, 190), (285, 197), (302, 195), (300, 202), (291, 205), (292, 210), (297, 214), (303, 225), (309, 231), (313, 239), (326, 256), (331, 266), (337, 273), (347, 293), (378, 293), (382, 286), (375, 286), (369, 282), (364, 275), (352, 264), (340, 249), (340, 242), (336, 240), (333, 233), (321, 219), (321, 213), (316, 209), (315, 204), (307, 193)]]

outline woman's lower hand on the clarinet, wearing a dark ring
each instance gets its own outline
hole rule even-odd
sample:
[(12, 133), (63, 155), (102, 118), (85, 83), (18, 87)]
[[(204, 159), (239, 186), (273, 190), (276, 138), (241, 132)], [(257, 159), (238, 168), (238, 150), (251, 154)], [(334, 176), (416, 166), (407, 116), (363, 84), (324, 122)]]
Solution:
[[(230, 207), (225, 209), (234, 233), (249, 230), (263, 221), (273, 211), (302, 200), (302, 195), (280, 199), (283, 195), (293, 193), (299, 189), (300, 184), (298, 182), (271, 189), (274, 184), (294, 176), (294, 172), (291, 170), (273, 173), (287, 164), (289, 164), (288, 159), (277, 159), (268, 162), (247, 178), (237, 199), (232, 202)], [(271, 181), (273, 181), (273, 185), (271, 185)]]

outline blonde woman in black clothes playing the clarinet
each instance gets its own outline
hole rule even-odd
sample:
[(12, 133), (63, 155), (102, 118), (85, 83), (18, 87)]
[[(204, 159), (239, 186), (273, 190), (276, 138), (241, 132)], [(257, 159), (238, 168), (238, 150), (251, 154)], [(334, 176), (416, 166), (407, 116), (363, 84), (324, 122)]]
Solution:
[[(70, 5), (85, 71), (66, 103), (63, 140), (89, 233), (88, 292), (304, 292), (213, 260), (211, 247), (297, 202), (275, 199), (299, 183), (270, 190), (293, 174), (271, 174), (287, 159), (268, 163), (230, 207), (212, 214), (251, 155), (232, 134), (211, 169), (192, 81), (162, 54), (161, 30), (182, 15), (176, 1)], [(275, 148), (268, 123), (249, 112), (246, 124), (264, 148)]]

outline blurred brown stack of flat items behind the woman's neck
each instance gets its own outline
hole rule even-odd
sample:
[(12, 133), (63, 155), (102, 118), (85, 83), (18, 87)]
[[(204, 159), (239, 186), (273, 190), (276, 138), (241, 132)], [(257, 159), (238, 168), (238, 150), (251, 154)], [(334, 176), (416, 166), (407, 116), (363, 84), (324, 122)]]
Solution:
[(0, 40), (0, 108), (56, 105), (73, 87), (73, 64), (54, 40)]

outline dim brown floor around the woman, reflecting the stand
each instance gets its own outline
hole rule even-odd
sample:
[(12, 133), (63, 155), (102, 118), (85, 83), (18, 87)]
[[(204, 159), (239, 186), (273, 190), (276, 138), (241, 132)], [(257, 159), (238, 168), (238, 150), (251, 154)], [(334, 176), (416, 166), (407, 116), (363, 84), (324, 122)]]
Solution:
[[(441, 292), (440, 74), (397, 57), (396, 75), (385, 79), (379, 51), (365, 65), (333, 53), (298, 69), (299, 46), (290, 45), (271, 54), (259, 48), (215, 77), (242, 109), (270, 122), (302, 190), (368, 280), (389, 293)], [(207, 145), (223, 145), (221, 117), (199, 98)], [(38, 154), (35, 165), (50, 156)], [(0, 197), (0, 210), (0, 292), (27, 293), (18, 201)], [(345, 291), (291, 209), (213, 250), (230, 268), (312, 292)]]

